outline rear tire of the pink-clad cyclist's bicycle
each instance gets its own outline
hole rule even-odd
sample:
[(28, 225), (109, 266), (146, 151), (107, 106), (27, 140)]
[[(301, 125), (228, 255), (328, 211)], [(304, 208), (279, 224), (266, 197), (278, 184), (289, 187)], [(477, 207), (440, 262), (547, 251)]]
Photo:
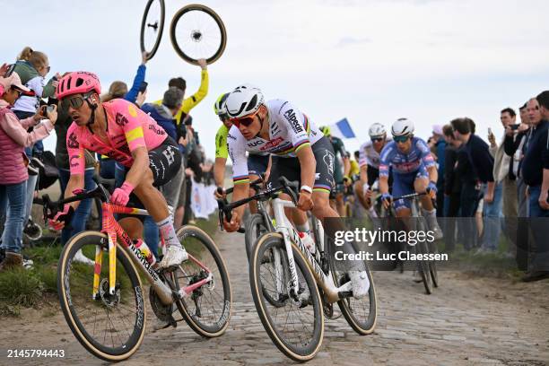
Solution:
[[(229, 319), (231, 318), (231, 310), (232, 310), (232, 292), (231, 292), (231, 281), (229, 280), (229, 272), (227, 271), (227, 266), (225, 266), (225, 262), (223, 261), (221, 252), (213, 242), (212, 238), (203, 231), (202, 229), (193, 226), (193, 225), (185, 225), (181, 228), (179, 228), (177, 232), (179, 241), (185, 246), (185, 241), (188, 241), (188, 238), (192, 237), (198, 240), (201, 245), (204, 246), (204, 248), (210, 253), (210, 255), (213, 257), (213, 261), (215, 262), (215, 266), (217, 266), (217, 270), (219, 273), (219, 277), (217, 280), (221, 279), (222, 283), (222, 310), (219, 312), (220, 316), (218, 318), (212, 319), (210, 324), (206, 324), (204, 320), (201, 318), (204, 318), (204, 315), (202, 315), (202, 311), (204, 309), (196, 309), (193, 311), (189, 308), (189, 303), (187, 303), (187, 297), (184, 299), (181, 299), (179, 301), (176, 301), (176, 305), (179, 309), (179, 312), (181, 313), (181, 316), (185, 319), (188, 326), (193, 329), (196, 334), (202, 335), (208, 338), (216, 337), (219, 335), (222, 335), (227, 327), (229, 327)], [(190, 248), (189, 245), (187, 245), (187, 251), (193, 256), (197, 257), (199, 255), (199, 252), (201, 248)], [(186, 262), (184, 262), (181, 266), (188, 267), (190, 266), (190, 259), (188, 259)], [(181, 267), (180, 266), (180, 267)], [(209, 268), (213, 273), (213, 268)], [(171, 279), (176, 285), (176, 289), (179, 291), (179, 281), (177, 281), (174, 276), (177, 274), (178, 271), (174, 271), (171, 273)], [(215, 274), (214, 274), (214, 284), (216, 283), (215, 280)], [(207, 286), (207, 285), (205, 285)], [(205, 286), (200, 287), (193, 292), (193, 295), (196, 296), (204, 296), (204, 290)], [(206, 288), (207, 289), (207, 288)], [(200, 293), (200, 294), (199, 294)], [(190, 298), (192, 299), (192, 296)], [(212, 303), (212, 302), (210, 302)], [(213, 311), (215, 314), (215, 311)]]

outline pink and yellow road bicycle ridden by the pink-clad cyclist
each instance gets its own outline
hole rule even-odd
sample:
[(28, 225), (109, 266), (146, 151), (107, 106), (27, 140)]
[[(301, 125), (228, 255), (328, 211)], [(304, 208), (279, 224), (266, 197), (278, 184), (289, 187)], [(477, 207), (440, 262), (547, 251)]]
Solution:
[[(188, 259), (180, 266), (159, 269), (143, 240), (132, 240), (115, 213), (147, 215), (138, 208), (112, 205), (101, 184), (90, 191), (57, 201), (42, 196), (47, 216), (63, 205), (99, 198), (102, 231), (83, 231), (67, 242), (57, 267), (57, 292), (65, 320), (83, 347), (106, 361), (122, 361), (139, 348), (146, 325), (145, 297), (157, 318), (176, 327), (179, 313), (198, 335), (219, 336), (231, 317), (231, 285), (221, 253), (213, 240), (195, 226), (177, 232)], [(74, 261), (82, 249), (94, 266)], [(144, 289), (143, 281), (150, 283)], [(148, 292), (148, 295), (147, 295)]]

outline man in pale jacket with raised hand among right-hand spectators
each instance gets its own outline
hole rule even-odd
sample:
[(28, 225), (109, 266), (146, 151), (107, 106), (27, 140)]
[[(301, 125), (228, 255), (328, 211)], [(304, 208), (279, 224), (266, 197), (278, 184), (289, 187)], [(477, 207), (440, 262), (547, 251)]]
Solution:
[[(506, 108), (501, 110), (500, 113), (501, 125), (505, 130), (509, 127), (518, 127), (516, 125), (517, 114), (513, 109)], [(489, 134), (488, 140), (490, 141), (490, 153), (493, 156), (493, 178), (496, 184), (501, 184), (503, 194), (503, 216), (505, 217), (505, 233), (510, 239), (510, 245), (508, 246), (508, 255), (515, 257), (517, 248), (517, 215), (518, 215), (518, 196), (517, 196), (517, 176), (513, 172), (514, 159), (510, 155), (505, 153), (504, 143), (505, 134), (501, 140), (501, 144), (495, 141), (495, 135)]]

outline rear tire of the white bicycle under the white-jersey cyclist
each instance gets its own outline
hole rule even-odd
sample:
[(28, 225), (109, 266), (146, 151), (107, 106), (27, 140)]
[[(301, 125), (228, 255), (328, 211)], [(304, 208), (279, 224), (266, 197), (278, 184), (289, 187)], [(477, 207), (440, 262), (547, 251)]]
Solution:
[[(328, 245), (328, 248), (332, 248), (332, 246)], [(331, 253), (328, 253), (328, 258), (331, 259), (334, 258), (334, 256)], [(330, 270), (334, 277), (335, 285), (341, 286), (343, 283), (340, 283), (340, 280), (344, 276), (342, 276), (341, 278), (337, 278), (337, 271), (335, 270), (334, 260), (330, 260), (329, 263)], [(358, 333), (359, 335), (370, 335), (371, 333), (373, 333), (376, 327), (376, 323), (378, 321), (378, 300), (376, 296), (376, 288), (373, 282), (373, 277), (371, 276), (370, 268), (368, 267), (368, 263), (366, 263), (366, 261), (364, 261), (364, 268), (366, 269), (366, 273), (368, 274), (368, 280), (370, 281), (370, 289), (368, 290), (369, 312), (366, 321), (362, 321), (361, 319), (357, 318), (355, 315), (357, 314), (357, 311), (353, 309), (354, 307), (351, 306), (352, 301), (358, 300), (354, 298), (342, 299), (340, 301), (337, 301), (337, 306), (339, 306), (339, 309), (341, 310), (341, 313), (343, 314), (349, 326), (351, 326), (356, 333)]]

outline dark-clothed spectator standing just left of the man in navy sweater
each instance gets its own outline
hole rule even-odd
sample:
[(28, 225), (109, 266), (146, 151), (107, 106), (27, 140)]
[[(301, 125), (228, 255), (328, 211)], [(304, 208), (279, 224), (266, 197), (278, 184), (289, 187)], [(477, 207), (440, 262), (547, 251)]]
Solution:
[(442, 127), (442, 134), (446, 141), (444, 151), (444, 217), (445, 229), (444, 239), (445, 250), (451, 252), (456, 247), (456, 217), (459, 215), (459, 202), (461, 196), (461, 177), (457, 170), (457, 151), (461, 147), (461, 141), (454, 138), (452, 126)]

